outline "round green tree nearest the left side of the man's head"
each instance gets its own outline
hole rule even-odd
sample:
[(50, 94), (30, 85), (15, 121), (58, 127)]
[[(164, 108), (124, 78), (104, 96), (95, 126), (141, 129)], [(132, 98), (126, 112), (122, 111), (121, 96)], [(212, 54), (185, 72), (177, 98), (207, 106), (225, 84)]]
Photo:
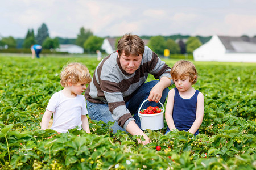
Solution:
[(101, 49), (103, 38), (97, 36), (90, 36), (88, 40), (84, 42), (84, 49), (86, 52), (96, 52)]

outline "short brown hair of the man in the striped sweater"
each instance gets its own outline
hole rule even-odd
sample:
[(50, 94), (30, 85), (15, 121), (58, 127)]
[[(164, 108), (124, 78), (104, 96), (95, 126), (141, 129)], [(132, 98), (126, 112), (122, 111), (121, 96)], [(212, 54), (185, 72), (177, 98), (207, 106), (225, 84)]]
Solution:
[(145, 44), (143, 40), (137, 36), (132, 35), (131, 33), (126, 33), (117, 43), (117, 52), (121, 55), (123, 52), (125, 56), (141, 54), (143, 56), (145, 49)]

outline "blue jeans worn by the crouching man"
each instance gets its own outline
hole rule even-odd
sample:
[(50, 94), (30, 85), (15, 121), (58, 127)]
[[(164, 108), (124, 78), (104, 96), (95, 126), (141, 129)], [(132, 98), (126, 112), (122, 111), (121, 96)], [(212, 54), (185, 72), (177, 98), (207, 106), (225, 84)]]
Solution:
[[(154, 80), (151, 82), (144, 83), (141, 87), (139, 87), (133, 97), (129, 101), (125, 103), (126, 108), (129, 109), (130, 113), (133, 115), (133, 118), (135, 119), (136, 124), (141, 128), (141, 120), (138, 116), (138, 109), (141, 106), (142, 102), (146, 100), (150, 94), (151, 89), (155, 86), (156, 83), (158, 83), (159, 80)], [(160, 102), (164, 104), (166, 101), (166, 97), (168, 95), (169, 89), (168, 87), (163, 90), (162, 97), (160, 99)], [(162, 107), (160, 103), (155, 102), (149, 102), (146, 101), (141, 109), (146, 109), (148, 106), (156, 106)], [(118, 125), (117, 121), (115, 121), (112, 118), (112, 113), (109, 111), (108, 104), (100, 104), (100, 103), (92, 103), (87, 101), (87, 109), (88, 109), (88, 115), (92, 120), (97, 121), (104, 121), (105, 123), (111, 121), (115, 122), (112, 126), (113, 132), (116, 133), (117, 130), (126, 131), (125, 129), (121, 128), (121, 126)]]

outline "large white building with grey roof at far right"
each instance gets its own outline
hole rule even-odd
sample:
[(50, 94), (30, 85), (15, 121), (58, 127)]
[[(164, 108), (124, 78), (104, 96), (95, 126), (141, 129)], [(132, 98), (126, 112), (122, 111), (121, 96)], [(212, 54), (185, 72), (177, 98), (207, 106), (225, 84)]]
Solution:
[(214, 35), (194, 50), (193, 57), (195, 61), (256, 62), (256, 37)]

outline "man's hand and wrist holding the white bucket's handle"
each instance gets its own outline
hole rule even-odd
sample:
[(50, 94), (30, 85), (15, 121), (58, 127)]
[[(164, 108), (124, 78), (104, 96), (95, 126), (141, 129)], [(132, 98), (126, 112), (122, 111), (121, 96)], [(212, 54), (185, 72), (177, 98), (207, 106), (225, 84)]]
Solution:
[(171, 80), (167, 77), (162, 77), (160, 81), (155, 84), (151, 89), (150, 95), (148, 96), (148, 101), (155, 101), (156, 103), (160, 101), (164, 88), (171, 85)]

